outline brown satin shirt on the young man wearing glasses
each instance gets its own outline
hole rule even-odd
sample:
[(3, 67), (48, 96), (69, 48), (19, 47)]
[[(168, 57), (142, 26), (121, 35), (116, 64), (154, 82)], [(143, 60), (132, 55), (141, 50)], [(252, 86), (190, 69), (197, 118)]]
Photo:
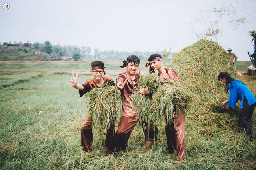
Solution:
[[(112, 78), (110, 77), (102, 77), (104, 80), (104, 84), (108, 84), (110, 86), (115, 86), (115, 83), (113, 81)], [(82, 84), (82, 86), (84, 87), (83, 90), (79, 90), (79, 95), (80, 97), (82, 97), (84, 94), (90, 92), (92, 90), (92, 88), (95, 87), (99, 87), (95, 82), (94, 82), (94, 78), (92, 79), (87, 79), (86, 82), (84, 84)]]

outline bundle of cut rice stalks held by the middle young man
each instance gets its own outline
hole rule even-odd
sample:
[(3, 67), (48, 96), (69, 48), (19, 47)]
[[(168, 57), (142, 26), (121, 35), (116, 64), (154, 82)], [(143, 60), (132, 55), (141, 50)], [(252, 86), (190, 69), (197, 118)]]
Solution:
[(131, 96), (133, 107), (136, 111), (137, 117), (140, 117), (141, 121), (149, 122), (151, 98), (148, 95), (140, 94), (140, 86), (148, 90), (151, 94), (154, 94), (156, 90), (161, 86), (161, 79), (156, 74), (145, 74), (140, 76), (140, 82), (138, 84), (137, 92)]

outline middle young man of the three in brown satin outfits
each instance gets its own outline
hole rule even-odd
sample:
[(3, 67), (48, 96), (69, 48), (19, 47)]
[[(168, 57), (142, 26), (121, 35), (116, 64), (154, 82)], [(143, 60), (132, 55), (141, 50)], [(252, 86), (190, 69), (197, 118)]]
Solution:
[[(136, 55), (130, 55), (127, 60), (123, 61), (121, 68), (126, 67), (126, 72), (120, 73), (116, 79), (116, 86), (121, 92), (122, 98), (122, 116), (118, 124), (118, 129), (116, 131), (117, 143), (116, 152), (120, 149), (126, 150), (128, 139), (134, 129), (135, 125), (139, 122), (142, 125), (143, 121), (139, 121), (134, 110), (131, 96), (136, 92), (136, 86), (139, 82), (139, 75), (144, 74), (139, 70), (139, 74), (136, 72), (140, 64), (140, 59)], [(144, 127), (144, 125), (142, 125)], [(157, 140), (157, 133), (150, 126), (148, 127), (145, 123), (144, 135), (146, 137), (146, 147), (149, 148), (154, 141)]]

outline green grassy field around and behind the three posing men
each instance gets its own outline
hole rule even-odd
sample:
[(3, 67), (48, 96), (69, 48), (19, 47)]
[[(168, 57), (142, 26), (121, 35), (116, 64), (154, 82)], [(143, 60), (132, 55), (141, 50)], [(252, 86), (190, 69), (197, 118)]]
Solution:
[[(90, 62), (0, 62), (0, 169), (40, 170), (252, 170), (256, 168), (256, 140), (240, 133), (238, 110), (186, 113), (186, 157), (169, 155), (164, 127), (158, 141), (144, 152), (142, 128), (136, 125), (128, 151), (105, 154), (104, 135), (94, 133), (93, 152), (80, 147), (80, 128), (86, 119), (84, 97), (70, 86), (71, 71), (79, 83), (89, 75)], [(114, 80), (124, 72), (122, 61), (106, 61)], [(145, 70), (146, 61), (140, 68)], [(242, 71), (241, 71), (242, 72)], [(256, 94), (251, 76), (242, 81)], [(238, 107), (238, 106), (237, 106)], [(201, 108), (198, 108), (201, 109)], [(39, 114), (39, 111), (42, 111)], [(229, 118), (229, 121), (223, 121)], [(204, 122), (198, 127), (197, 121)], [(116, 125), (119, 119), (116, 120)], [(252, 127), (256, 132), (255, 112)]]

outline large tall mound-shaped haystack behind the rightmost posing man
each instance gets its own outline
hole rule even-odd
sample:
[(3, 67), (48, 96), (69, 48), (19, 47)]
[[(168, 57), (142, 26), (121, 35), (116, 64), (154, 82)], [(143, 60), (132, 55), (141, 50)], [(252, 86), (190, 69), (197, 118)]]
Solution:
[(220, 72), (227, 71), (233, 78), (238, 78), (228, 53), (217, 43), (206, 39), (182, 49), (165, 66), (173, 68), (182, 84), (197, 94), (198, 102), (194, 105), (206, 108), (217, 104), (224, 94), (225, 84), (218, 81)]

